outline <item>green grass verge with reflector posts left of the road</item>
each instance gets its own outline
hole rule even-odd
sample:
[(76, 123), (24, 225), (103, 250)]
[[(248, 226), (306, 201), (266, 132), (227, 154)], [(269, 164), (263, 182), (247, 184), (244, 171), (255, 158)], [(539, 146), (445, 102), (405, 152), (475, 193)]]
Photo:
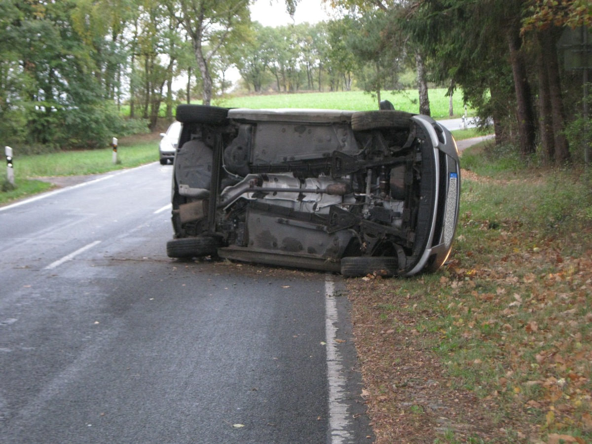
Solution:
[[(112, 161), (111, 148), (31, 156), (18, 156), (17, 151), (14, 156), (15, 189), (8, 190), (8, 186), (2, 187), (0, 205), (53, 187), (52, 184), (38, 181), (36, 178), (100, 174), (155, 162), (159, 159), (158, 140), (157, 134), (142, 134), (120, 140), (116, 164)], [(0, 182), (7, 183), (5, 173), (0, 174)]]

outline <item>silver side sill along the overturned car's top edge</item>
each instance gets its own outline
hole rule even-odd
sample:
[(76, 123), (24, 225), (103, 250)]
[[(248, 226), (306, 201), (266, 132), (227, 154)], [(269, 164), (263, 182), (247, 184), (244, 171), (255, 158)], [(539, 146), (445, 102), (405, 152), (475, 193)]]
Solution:
[(349, 123), (355, 111), (316, 110), (308, 108), (275, 108), (252, 110), (232, 108), (228, 117), (252, 122)]

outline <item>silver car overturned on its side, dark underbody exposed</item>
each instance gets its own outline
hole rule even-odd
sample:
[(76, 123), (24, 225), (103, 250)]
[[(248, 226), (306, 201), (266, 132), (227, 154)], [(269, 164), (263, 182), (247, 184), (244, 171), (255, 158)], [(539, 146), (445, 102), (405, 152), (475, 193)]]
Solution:
[(410, 276), (451, 252), (456, 143), (392, 110), (179, 105), (171, 258)]

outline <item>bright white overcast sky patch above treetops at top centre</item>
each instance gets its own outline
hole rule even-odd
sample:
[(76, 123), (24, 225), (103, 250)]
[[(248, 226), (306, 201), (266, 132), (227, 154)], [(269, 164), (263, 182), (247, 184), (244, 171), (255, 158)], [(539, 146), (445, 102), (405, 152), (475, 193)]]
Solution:
[(321, 0), (300, 0), (296, 6), (294, 21), (286, 12), (284, 0), (256, 0), (251, 6), (251, 20), (258, 21), (263, 26), (281, 26), (291, 23), (309, 22), (310, 24), (318, 21), (329, 20)]

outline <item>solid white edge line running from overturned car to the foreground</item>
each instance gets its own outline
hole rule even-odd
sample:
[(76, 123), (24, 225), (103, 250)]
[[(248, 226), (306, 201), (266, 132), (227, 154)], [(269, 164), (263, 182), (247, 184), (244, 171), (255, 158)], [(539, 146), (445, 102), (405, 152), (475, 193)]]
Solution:
[(325, 336), (327, 343), (327, 379), (329, 382), (329, 431), (331, 444), (353, 442), (349, 432), (348, 392), (344, 376), (343, 358), (337, 350), (337, 300), (333, 277), (325, 278)]

